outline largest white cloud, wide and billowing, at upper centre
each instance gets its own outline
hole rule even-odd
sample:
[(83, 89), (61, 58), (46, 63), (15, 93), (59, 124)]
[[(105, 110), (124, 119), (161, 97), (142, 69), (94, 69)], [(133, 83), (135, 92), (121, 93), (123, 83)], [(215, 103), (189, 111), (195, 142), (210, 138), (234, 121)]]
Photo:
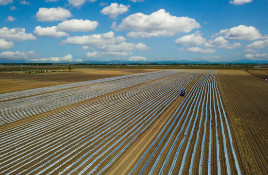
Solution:
[(188, 33), (201, 25), (195, 19), (171, 16), (164, 9), (151, 15), (136, 13), (124, 18), (117, 31), (132, 30), (127, 36), (150, 38), (152, 36), (173, 36), (179, 32)]

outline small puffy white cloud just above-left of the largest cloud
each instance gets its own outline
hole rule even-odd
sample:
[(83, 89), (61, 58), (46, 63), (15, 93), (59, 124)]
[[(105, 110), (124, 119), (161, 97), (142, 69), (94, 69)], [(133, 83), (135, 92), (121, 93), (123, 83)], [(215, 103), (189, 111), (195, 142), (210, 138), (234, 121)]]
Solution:
[(111, 3), (110, 6), (104, 7), (101, 10), (101, 14), (108, 15), (109, 18), (117, 18), (118, 15), (123, 14), (129, 10), (130, 5), (123, 5), (117, 2)]

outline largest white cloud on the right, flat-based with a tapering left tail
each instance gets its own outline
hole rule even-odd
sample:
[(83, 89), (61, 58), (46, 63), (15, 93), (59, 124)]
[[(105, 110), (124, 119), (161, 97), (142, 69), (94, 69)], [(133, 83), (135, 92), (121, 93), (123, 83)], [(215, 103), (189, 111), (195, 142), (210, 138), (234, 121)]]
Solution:
[(213, 35), (213, 37), (217, 37), (218, 35), (222, 35), (222, 34), (224, 34), (224, 37), (226, 39), (234, 39), (234, 40), (252, 41), (255, 39), (262, 38), (262, 35), (260, 34), (259, 30), (257, 30), (253, 26), (248, 27), (245, 25), (239, 25), (231, 29), (221, 30), (219, 33), (216, 33), (215, 35)]

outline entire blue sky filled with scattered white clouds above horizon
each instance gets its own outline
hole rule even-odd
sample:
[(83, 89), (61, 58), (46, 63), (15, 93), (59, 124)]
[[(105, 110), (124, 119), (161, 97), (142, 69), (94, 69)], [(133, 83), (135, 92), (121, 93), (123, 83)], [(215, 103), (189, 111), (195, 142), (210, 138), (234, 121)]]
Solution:
[(268, 0), (0, 0), (0, 62), (268, 60)]

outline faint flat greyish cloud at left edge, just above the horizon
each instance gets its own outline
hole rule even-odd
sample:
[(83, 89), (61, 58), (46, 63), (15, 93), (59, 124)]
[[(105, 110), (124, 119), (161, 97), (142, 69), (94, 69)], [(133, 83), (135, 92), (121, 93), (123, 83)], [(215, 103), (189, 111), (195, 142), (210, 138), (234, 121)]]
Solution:
[(2, 52), (0, 53), (0, 59), (8, 59), (8, 60), (26, 60), (28, 58), (31, 58), (33, 56), (38, 56), (39, 54), (35, 53), (34, 51), (29, 52)]

